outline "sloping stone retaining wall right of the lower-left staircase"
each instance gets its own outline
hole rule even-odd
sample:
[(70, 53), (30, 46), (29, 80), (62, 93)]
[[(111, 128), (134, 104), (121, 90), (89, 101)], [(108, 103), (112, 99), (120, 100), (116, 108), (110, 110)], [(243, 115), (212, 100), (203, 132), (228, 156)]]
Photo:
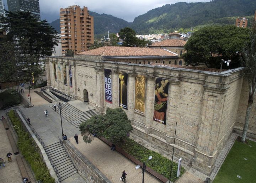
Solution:
[(101, 173), (96, 166), (94, 166), (73, 144), (64, 141), (64, 146), (72, 161), (74, 162), (79, 174), (91, 183), (111, 183), (111, 181)]

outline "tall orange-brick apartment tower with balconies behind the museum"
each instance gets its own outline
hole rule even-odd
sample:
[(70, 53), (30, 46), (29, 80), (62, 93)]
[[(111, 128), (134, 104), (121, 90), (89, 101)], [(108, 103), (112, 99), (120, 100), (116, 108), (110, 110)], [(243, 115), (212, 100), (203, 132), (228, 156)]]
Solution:
[(89, 15), (87, 7), (60, 8), (60, 34), (62, 55), (66, 50), (74, 50), (75, 53), (88, 50), (94, 43), (94, 18)]

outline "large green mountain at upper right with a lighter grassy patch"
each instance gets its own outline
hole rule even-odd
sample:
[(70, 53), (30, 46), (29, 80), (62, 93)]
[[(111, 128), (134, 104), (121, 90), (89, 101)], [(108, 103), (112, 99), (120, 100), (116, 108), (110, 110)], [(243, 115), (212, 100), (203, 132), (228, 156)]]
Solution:
[(234, 24), (234, 18), (254, 15), (255, 0), (212, 0), (210, 2), (177, 2), (150, 10), (136, 17), (131, 28), (137, 34), (169, 29), (190, 28), (203, 24)]

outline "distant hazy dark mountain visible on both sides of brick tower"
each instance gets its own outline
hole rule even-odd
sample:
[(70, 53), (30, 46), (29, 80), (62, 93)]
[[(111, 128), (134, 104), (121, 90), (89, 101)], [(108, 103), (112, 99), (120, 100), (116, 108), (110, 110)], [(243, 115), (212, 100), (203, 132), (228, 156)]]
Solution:
[[(114, 17), (112, 15), (98, 14), (90, 11), (90, 15), (94, 17), (94, 34), (95, 35), (107, 35), (108, 30), (110, 33), (118, 33), (120, 29), (124, 27), (129, 27), (130, 23), (121, 19)], [(51, 23), (55, 30), (60, 33), (60, 20), (57, 19)]]

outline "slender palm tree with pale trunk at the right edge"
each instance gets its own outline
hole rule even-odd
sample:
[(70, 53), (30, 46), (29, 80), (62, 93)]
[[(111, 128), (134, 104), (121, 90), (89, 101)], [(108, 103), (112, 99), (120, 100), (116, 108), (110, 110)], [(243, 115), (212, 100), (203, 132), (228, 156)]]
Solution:
[(245, 115), (244, 129), (242, 132), (241, 142), (245, 142), (246, 133), (248, 130), (249, 119), (251, 114), (251, 107), (254, 101), (256, 91), (256, 22), (254, 22), (250, 30), (250, 42), (247, 43), (242, 50), (241, 62), (245, 67), (245, 79), (249, 86), (249, 98), (247, 102), (247, 109)]

